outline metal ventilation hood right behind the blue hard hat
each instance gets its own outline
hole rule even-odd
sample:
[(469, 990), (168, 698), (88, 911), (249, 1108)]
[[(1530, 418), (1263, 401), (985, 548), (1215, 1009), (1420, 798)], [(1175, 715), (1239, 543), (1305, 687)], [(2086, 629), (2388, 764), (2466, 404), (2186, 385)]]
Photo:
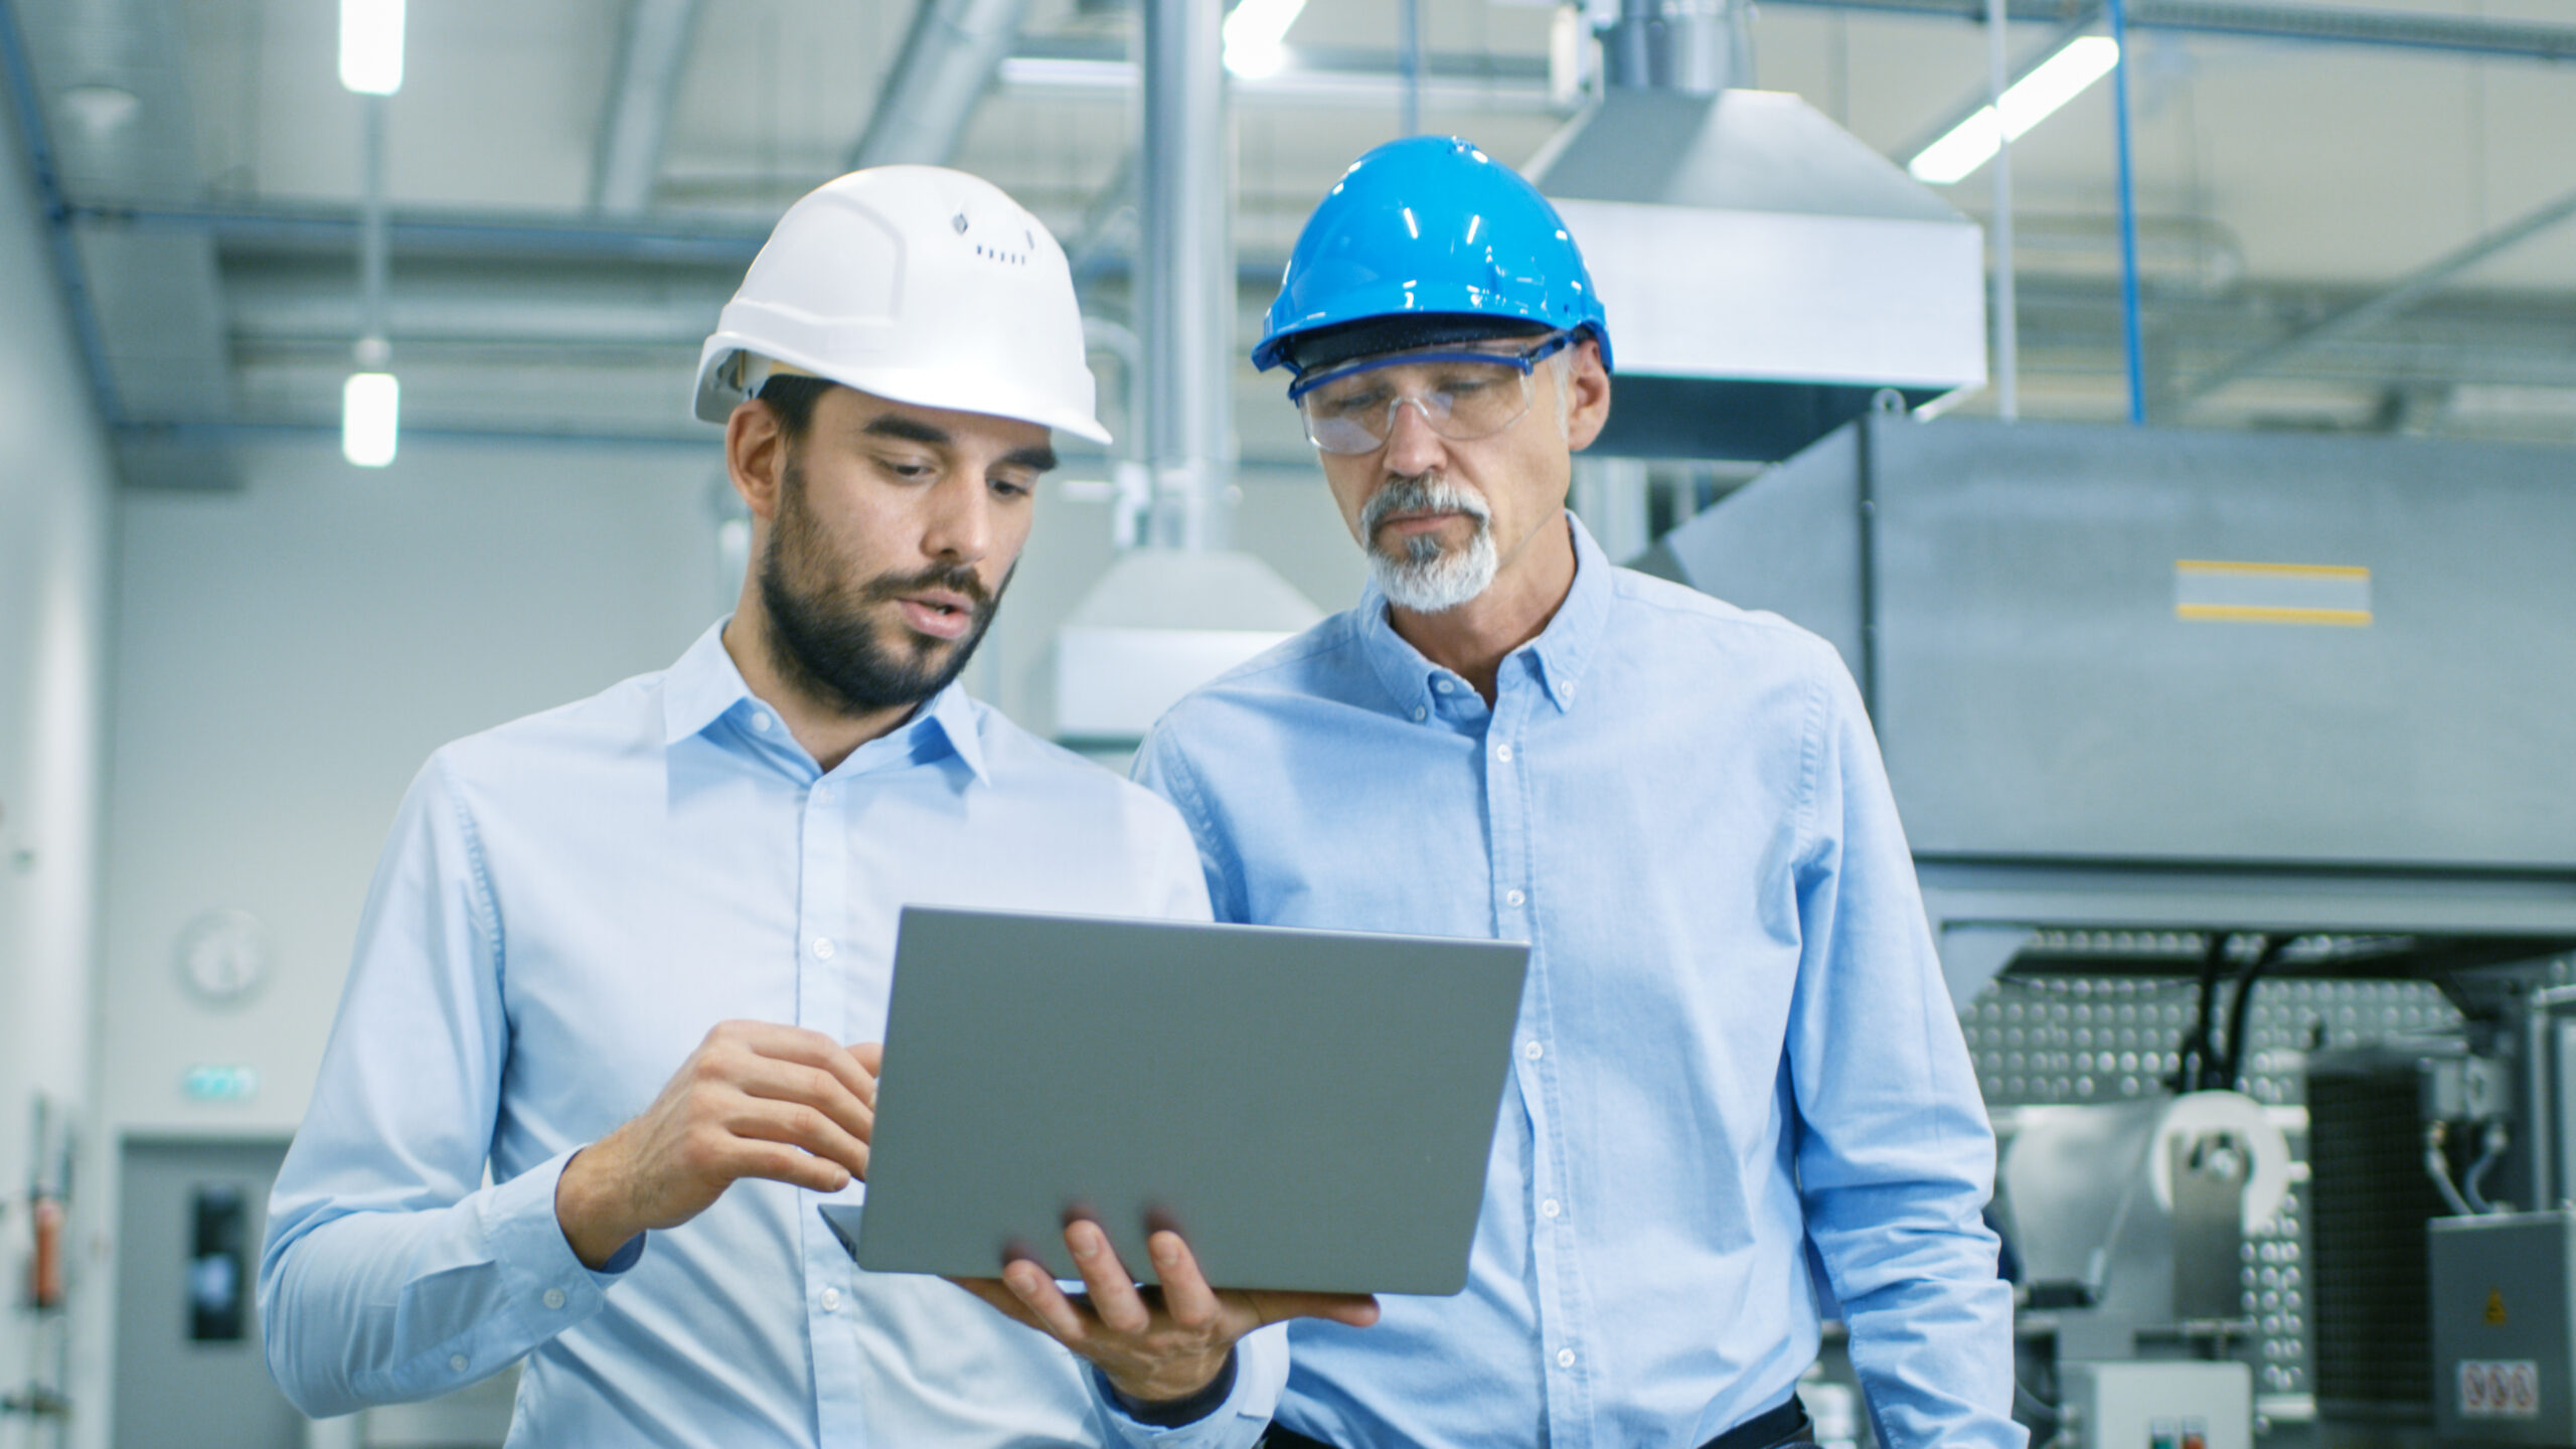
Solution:
[(1592, 451), (1785, 459), (1984, 387), (1976, 222), (1795, 95), (1615, 80), (1528, 165), (1618, 343)]

